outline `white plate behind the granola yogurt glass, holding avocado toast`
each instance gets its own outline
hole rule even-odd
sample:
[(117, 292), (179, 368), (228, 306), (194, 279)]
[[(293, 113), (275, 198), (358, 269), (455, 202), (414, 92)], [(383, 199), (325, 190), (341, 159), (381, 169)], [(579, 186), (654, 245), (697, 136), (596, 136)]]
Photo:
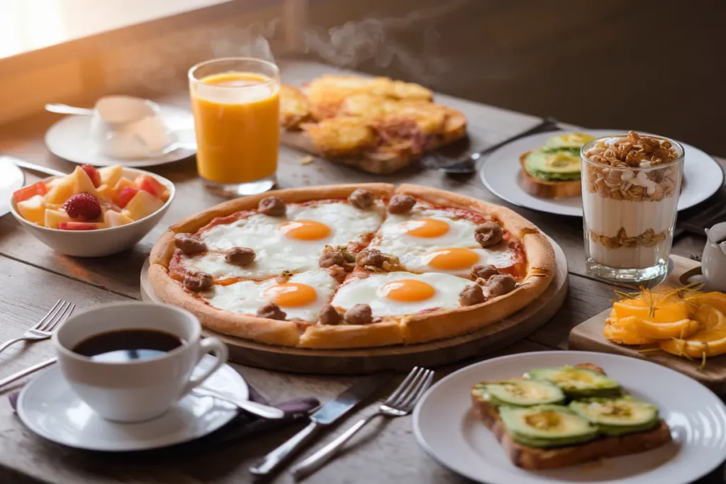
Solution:
[[(527, 136), (512, 141), (510, 144), (494, 151), (481, 165), (479, 175), (481, 181), (490, 192), (507, 202), (520, 207), (540, 210), (542, 212), (556, 213), (582, 217), (582, 197), (569, 197), (558, 200), (534, 197), (527, 193), (521, 184), (521, 165), (519, 156), (523, 152), (542, 147), (544, 141), (558, 134), (573, 133), (575, 131), (551, 131)], [(576, 131), (586, 133), (596, 138), (610, 134), (625, 133), (617, 129), (583, 129)], [(680, 141), (679, 141), (680, 142)], [(681, 143), (685, 149), (683, 165), (683, 189), (678, 200), (678, 210), (691, 208), (703, 202), (712, 194), (718, 192), (724, 182), (724, 172), (721, 166), (701, 149), (690, 144)]]

